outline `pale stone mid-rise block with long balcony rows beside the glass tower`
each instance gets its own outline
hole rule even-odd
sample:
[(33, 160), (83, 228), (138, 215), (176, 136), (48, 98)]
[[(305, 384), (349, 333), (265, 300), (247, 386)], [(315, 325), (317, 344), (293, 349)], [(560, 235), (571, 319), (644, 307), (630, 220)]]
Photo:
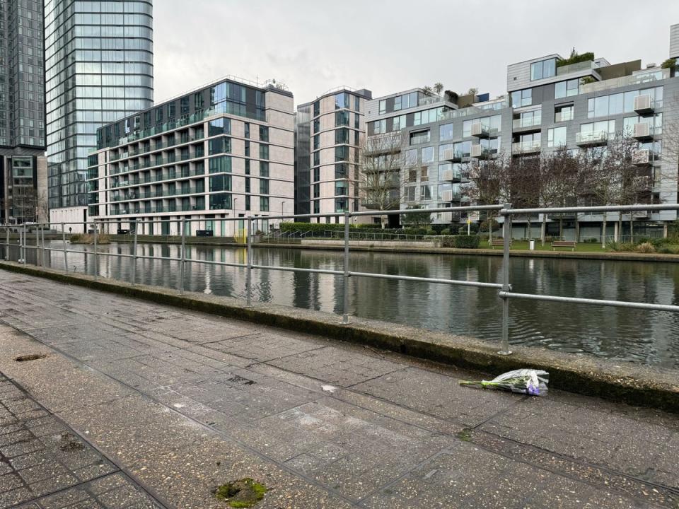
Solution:
[(294, 211), (293, 95), (224, 78), (101, 127), (88, 161), (89, 217), (110, 233), (179, 235), (190, 218), (187, 234), (234, 236), (250, 216), (268, 231)]

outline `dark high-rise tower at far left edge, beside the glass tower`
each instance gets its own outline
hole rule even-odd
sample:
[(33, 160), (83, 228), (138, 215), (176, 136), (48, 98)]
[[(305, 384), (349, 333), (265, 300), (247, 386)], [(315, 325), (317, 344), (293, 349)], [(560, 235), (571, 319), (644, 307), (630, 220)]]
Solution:
[(1, 2), (0, 25), (0, 223), (45, 220), (42, 2)]

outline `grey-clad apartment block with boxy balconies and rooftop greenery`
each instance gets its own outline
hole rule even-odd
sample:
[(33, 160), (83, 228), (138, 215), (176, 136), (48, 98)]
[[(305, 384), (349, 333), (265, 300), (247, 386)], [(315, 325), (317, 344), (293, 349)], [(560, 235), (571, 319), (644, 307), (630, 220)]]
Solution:
[[(670, 56), (679, 54), (679, 25), (671, 28)], [(401, 133), (400, 206), (439, 208), (462, 203), (465, 165), (504, 153), (531, 158), (566, 148), (602, 153), (617, 136), (636, 140), (634, 163), (649, 175), (646, 203), (677, 202), (679, 156), (679, 74), (677, 62), (642, 68), (639, 60), (610, 64), (584, 54), (559, 54), (511, 64), (507, 95), (459, 97), (406, 90), (368, 102), (368, 139)], [(663, 126), (668, 127), (663, 131)], [(579, 199), (579, 204), (593, 204)], [(465, 216), (437, 213), (434, 223), (457, 226)], [(607, 235), (617, 234), (617, 214), (607, 216)], [(642, 228), (661, 228), (677, 218), (675, 211), (635, 213)], [(539, 218), (535, 218), (538, 220)], [(563, 221), (564, 218), (560, 218)], [(566, 218), (569, 236), (600, 235), (602, 216)], [(629, 215), (623, 216), (624, 221)], [(536, 231), (518, 235), (532, 236)], [(537, 223), (537, 221), (536, 221)], [(557, 232), (550, 221), (548, 233)]]

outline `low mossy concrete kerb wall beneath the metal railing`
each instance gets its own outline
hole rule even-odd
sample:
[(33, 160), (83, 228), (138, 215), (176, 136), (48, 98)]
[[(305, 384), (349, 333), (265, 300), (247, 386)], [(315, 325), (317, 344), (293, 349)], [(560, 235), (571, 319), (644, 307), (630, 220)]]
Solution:
[(246, 308), (243, 303), (232, 298), (202, 293), (182, 296), (170, 288), (132, 286), (111, 279), (95, 280), (92, 276), (24, 267), (15, 262), (0, 262), (0, 269), (296, 332), (318, 334), (484, 373), (497, 375), (518, 368), (544, 369), (550, 373), (552, 388), (679, 413), (679, 377), (673, 370), (606, 361), (593, 356), (575, 356), (538, 347), (516, 346), (511, 356), (501, 356), (497, 354), (497, 344), (406, 325), (358, 317), (352, 317), (351, 323), (344, 325), (340, 317), (325, 312), (269, 303)]

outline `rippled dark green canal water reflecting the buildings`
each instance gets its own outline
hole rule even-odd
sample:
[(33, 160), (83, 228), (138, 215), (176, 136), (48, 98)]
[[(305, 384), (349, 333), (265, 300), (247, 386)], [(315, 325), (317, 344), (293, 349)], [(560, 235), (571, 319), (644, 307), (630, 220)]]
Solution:
[[(52, 241), (48, 247), (60, 249), (62, 242)], [(99, 249), (129, 254), (132, 245), (114, 243)], [(92, 247), (69, 245), (69, 250), (91, 251)], [(257, 248), (253, 252), (255, 264), (343, 269), (339, 251)], [(140, 244), (138, 254), (179, 257), (180, 247)], [(17, 259), (16, 248), (11, 257)], [(189, 246), (187, 257), (246, 262), (245, 249), (238, 247)], [(55, 269), (64, 268), (61, 252), (52, 251), (49, 259)], [(69, 253), (67, 261), (69, 270), (93, 274), (92, 254)], [(34, 262), (35, 252), (29, 251), (28, 263)], [(128, 258), (100, 256), (98, 264), (101, 276), (127, 281), (131, 277)], [(352, 252), (350, 266), (352, 271), (381, 274), (501, 281), (501, 257)], [(178, 262), (137, 261), (139, 283), (177, 288), (178, 276)], [(515, 257), (511, 283), (514, 291), (522, 293), (679, 304), (679, 264), (675, 263)], [(341, 314), (342, 284), (341, 276), (254, 269), (253, 299)], [(501, 307), (492, 289), (372, 278), (352, 278), (349, 285), (354, 315), (499, 341)], [(245, 269), (187, 264), (185, 289), (244, 299)], [(510, 316), (512, 344), (679, 368), (676, 313), (512, 300)]]

